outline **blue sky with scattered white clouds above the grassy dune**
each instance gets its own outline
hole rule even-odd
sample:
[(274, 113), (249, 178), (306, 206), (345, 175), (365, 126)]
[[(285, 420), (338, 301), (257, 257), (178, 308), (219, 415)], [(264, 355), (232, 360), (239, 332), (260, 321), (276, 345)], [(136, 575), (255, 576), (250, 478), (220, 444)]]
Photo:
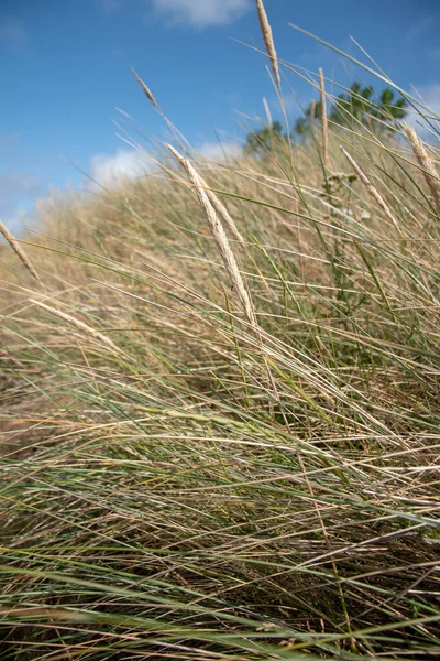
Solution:
[[(361, 71), (293, 30), (295, 23), (365, 59), (353, 36), (404, 88), (416, 86), (440, 112), (438, 0), (265, 0), (278, 56), (342, 85)], [(75, 169), (106, 181), (135, 172), (141, 158), (117, 136), (114, 121), (142, 141), (166, 139), (143, 97), (138, 69), (168, 117), (207, 154), (231, 149), (246, 118), (264, 117), (266, 97), (279, 116), (262, 48), (254, 0), (0, 0), (0, 217), (29, 225), (51, 187), (87, 187)], [(286, 72), (292, 119), (296, 96), (314, 90)], [(376, 83), (377, 89), (381, 84)]]

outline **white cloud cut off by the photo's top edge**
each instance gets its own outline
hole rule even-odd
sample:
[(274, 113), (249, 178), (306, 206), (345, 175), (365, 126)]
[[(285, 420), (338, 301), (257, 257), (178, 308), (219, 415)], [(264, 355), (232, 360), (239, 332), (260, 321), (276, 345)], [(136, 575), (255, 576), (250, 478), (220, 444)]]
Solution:
[(252, 0), (151, 0), (151, 4), (169, 25), (209, 28), (240, 19), (251, 9)]

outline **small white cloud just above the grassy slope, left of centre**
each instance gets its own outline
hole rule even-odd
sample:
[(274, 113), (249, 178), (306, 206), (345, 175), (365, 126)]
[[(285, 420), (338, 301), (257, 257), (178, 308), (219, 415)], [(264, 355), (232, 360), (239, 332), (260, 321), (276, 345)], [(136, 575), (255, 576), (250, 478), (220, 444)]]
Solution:
[(134, 178), (148, 170), (147, 159), (134, 149), (121, 149), (116, 154), (97, 154), (90, 161), (90, 174), (100, 184), (114, 183), (122, 177)]

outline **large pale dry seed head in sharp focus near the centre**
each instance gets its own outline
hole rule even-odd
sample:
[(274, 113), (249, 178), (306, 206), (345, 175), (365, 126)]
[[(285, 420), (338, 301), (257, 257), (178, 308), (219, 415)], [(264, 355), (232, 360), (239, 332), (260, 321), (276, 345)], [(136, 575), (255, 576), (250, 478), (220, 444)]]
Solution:
[(231, 279), (232, 284), (234, 285), (234, 288), (237, 290), (237, 294), (239, 296), (239, 300), (240, 300), (240, 303), (244, 311), (244, 314), (246, 315), (248, 321), (253, 326), (256, 326), (257, 323), (256, 323), (255, 313), (254, 313), (254, 310), (252, 306), (251, 297), (244, 285), (243, 279), (241, 277), (239, 267), (235, 261), (235, 257), (229, 245), (224, 228), (221, 224), (218, 213), (216, 212), (216, 208), (213, 207), (213, 205), (208, 196), (208, 193), (206, 191), (206, 184), (205, 184), (204, 180), (200, 177), (200, 175), (198, 174), (196, 169), (191, 165), (191, 163), (188, 161), (188, 159), (185, 159), (185, 156), (183, 156), (170, 144), (167, 144), (166, 147), (170, 151), (173, 156), (180, 163), (180, 165), (184, 167), (184, 170), (186, 170), (186, 172), (189, 176), (189, 180), (190, 180), (191, 184), (194, 185), (194, 189), (196, 192), (197, 198), (205, 209), (209, 229), (211, 230), (212, 237), (217, 243), (217, 247), (219, 248), (220, 254), (221, 254), (223, 263), (224, 263), (224, 268)]

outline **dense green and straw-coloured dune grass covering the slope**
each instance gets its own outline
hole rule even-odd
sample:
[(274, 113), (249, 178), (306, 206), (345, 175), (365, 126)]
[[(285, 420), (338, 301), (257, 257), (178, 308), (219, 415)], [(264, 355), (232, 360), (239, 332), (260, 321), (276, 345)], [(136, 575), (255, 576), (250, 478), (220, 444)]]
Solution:
[(437, 658), (439, 152), (174, 144), (0, 248), (0, 658)]

